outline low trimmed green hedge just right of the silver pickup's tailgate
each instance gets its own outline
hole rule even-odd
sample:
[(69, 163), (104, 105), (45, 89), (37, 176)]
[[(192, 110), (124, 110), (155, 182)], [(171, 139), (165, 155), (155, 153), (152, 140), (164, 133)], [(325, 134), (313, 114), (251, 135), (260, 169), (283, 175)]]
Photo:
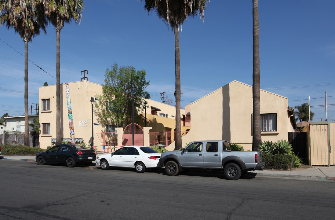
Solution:
[(294, 155), (263, 153), (264, 169), (289, 170), (294, 167)]

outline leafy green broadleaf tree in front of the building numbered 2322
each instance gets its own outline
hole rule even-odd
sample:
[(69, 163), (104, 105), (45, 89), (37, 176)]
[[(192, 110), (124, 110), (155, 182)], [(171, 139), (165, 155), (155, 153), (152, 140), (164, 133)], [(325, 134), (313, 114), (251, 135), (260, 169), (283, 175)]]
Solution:
[[(121, 66), (114, 63), (105, 71), (105, 84), (102, 95), (95, 94), (98, 102), (94, 104), (94, 113), (100, 124), (112, 124), (125, 127), (132, 121), (132, 101), (134, 100), (134, 121), (141, 120), (137, 112), (143, 108), (144, 99), (150, 95), (144, 89), (150, 81), (145, 79), (145, 70), (136, 71), (133, 66)], [(131, 98), (132, 94), (135, 98)], [(144, 110), (144, 109), (143, 109)]]

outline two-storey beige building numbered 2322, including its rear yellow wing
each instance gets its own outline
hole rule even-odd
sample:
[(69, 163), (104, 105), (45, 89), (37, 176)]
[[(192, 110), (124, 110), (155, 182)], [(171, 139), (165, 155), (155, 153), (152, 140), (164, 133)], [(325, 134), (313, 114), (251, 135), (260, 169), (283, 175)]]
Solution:
[[(87, 146), (92, 142), (92, 104), (91, 97), (94, 94), (102, 94), (102, 86), (90, 81), (76, 81), (69, 83), (72, 119), (74, 127), (74, 138), (77, 143), (86, 143)], [(66, 86), (61, 84), (61, 138), (67, 142), (70, 141), (70, 127), (68, 106), (66, 98)], [(96, 100), (96, 98), (95, 98)], [(106, 101), (106, 100), (96, 100)], [(153, 100), (147, 102), (146, 111), (141, 112), (143, 119), (147, 119), (147, 126), (152, 127), (152, 131), (174, 131), (175, 130), (175, 107), (166, 105)], [(41, 123), (40, 147), (46, 149), (56, 141), (56, 85), (44, 86), (39, 88), (39, 118)], [(146, 114), (145, 114), (146, 113)], [(181, 115), (185, 115), (184, 109), (181, 109)], [(144, 121), (144, 120), (143, 120)], [(122, 128), (114, 129), (117, 125), (99, 124), (96, 115), (93, 114), (93, 143), (102, 150), (102, 143), (97, 133), (106, 132), (106, 127), (112, 128), (112, 132), (118, 132), (122, 135)], [(140, 124), (141, 127), (145, 123)], [(111, 129), (108, 129), (109, 131)], [(146, 129), (148, 130), (148, 129)], [(122, 137), (122, 136), (121, 136)], [(122, 143), (122, 141), (118, 142)], [(119, 144), (121, 146), (121, 144)]]

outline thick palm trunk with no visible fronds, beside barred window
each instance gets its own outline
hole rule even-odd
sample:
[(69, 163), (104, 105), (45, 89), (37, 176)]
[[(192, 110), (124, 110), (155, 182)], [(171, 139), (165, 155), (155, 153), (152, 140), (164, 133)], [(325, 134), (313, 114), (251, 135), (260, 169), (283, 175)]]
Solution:
[(252, 150), (258, 149), (262, 144), (261, 115), (260, 115), (260, 68), (259, 68), (259, 24), (258, 24), (258, 0), (253, 0), (253, 137)]

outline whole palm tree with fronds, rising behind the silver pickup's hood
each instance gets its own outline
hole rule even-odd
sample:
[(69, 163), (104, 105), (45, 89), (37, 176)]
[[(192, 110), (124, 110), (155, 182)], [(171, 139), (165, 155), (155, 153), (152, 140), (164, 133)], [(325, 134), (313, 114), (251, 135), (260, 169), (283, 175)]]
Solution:
[[(143, 0), (141, 0), (143, 1)], [(153, 10), (157, 13), (167, 27), (175, 32), (175, 65), (176, 65), (176, 142), (175, 150), (182, 149), (182, 134), (180, 124), (180, 51), (179, 27), (188, 16), (194, 17), (198, 13), (204, 18), (207, 0), (145, 0), (144, 8), (150, 14)]]

